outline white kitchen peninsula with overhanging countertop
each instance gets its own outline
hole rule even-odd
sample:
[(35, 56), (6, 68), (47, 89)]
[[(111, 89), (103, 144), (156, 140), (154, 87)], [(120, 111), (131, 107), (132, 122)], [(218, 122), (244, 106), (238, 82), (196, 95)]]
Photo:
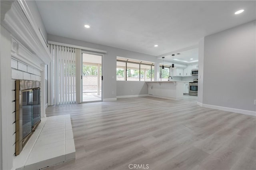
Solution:
[(183, 81), (146, 81), (148, 95), (163, 99), (180, 100), (183, 97)]

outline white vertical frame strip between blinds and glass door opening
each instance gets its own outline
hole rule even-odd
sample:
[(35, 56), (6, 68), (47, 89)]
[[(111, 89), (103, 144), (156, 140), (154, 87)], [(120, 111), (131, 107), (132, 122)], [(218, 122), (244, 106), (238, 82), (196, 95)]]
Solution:
[(76, 103), (82, 102), (82, 50), (75, 49), (76, 55)]

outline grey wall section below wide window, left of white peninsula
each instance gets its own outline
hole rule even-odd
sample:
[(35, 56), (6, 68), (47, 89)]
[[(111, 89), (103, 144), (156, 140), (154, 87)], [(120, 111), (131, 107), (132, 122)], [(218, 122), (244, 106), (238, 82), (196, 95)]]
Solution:
[(148, 95), (145, 81), (116, 81), (116, 96)]

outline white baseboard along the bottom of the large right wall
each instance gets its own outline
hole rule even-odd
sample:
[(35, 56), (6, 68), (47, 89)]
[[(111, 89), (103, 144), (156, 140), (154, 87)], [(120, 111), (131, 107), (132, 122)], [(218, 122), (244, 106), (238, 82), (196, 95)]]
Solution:
[(215, 105), (207, 105), (207, 104), (202, 104), (199, 102), (197, 102), (196, 104), (201, 107), (207, 107), (210, 109), (217, 109), (217, 110), (221, 110), (221, 111), (228, 111), (228, 112), (234, 112), (234, 113), (241, 113), (244, 115), (256, 116), (256, 112), (254, 112), (254, 111), (247, 111), (247, 110), (242, 110), (242, 109), (234, 109), (234, 108), (230, 108), (230, 107), (222, 107), (222, 106), (215, 106)]

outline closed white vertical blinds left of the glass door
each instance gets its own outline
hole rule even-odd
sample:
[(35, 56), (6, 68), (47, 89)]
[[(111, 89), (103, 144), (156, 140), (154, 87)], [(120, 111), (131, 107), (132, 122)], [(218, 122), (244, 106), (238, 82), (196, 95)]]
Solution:
[(75, 48), (50, 44), (53, 56), (54, 105), (76, 103)]

